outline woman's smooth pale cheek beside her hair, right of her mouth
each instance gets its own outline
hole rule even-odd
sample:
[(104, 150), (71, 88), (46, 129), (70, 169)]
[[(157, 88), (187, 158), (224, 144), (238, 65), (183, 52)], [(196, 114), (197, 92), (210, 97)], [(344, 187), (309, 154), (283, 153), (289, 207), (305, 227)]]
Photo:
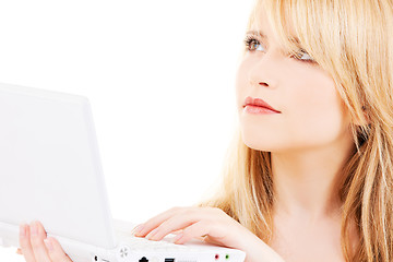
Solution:
[(347, 131), (348, 122), (333, 80), (317, 76), (294, 83), (295, 88), (287, 92), (285, 118), (294, 140), (327, 144)]

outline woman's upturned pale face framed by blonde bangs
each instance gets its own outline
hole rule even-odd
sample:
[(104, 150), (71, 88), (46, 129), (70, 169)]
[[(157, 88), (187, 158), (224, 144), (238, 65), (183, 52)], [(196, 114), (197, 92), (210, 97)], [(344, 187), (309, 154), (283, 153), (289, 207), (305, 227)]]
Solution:
[[(350, 139), (349, 117), (333, 79), (318, 63), (279, 50), (272, 28), (261, 15), (266, 36), (247, 34), (249, 46), (236, 76), (242, 140), (267, 152), (315, 148)], [(251, 28), (252, 31), (252, 28)], [(254, 40), (252, 40), (254, 38)], [(252, 114), (247, 97), (261, 98), (279, 114)], [(251, 108), (252, 109), (252, 108)]]

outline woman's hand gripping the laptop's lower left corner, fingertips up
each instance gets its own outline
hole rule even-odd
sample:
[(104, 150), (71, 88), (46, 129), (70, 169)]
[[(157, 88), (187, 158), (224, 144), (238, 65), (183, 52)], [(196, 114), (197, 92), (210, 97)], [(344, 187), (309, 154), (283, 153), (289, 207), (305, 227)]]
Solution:
[(55, 238), (47, 238), (39, 222), (20, 225), (20, 246), (16, 253), (23, 254), (26, 262), (72, 262)]

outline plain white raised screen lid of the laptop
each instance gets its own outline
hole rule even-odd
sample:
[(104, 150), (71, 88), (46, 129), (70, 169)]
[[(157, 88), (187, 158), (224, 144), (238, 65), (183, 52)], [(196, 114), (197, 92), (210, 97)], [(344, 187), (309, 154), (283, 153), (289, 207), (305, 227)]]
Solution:
[(0, 224), (15, 229), (0, 243), (39, 219), (50, 235), (117, 246), (86, 97), (0, 83)]

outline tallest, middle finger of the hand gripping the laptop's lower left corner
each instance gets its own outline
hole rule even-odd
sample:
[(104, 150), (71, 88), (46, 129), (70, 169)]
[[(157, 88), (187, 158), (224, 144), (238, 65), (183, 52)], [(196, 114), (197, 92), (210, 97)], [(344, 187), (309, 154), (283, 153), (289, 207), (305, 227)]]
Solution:
[(43, 225), (35, 221), (31, 223), (31, 241), (33, 247), (34, 257), (39, 262), (50, 262), (47, 248), (45, 247), (44, 239), (46, 231)]

